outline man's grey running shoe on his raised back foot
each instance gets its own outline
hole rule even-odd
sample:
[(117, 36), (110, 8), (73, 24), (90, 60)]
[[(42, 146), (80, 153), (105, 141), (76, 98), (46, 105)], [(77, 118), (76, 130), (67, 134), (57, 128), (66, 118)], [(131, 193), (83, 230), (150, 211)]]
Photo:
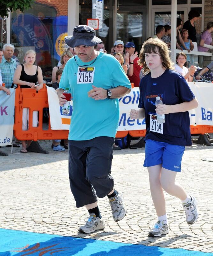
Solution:
[[(118, 190), (117, 190), (118, 192)], [(122, 220), (126, 216), (126, 209), (124, 206), (124, 196), (118, 192), (117, 196), (109, 198), (110, 206), (112, 209), (112, 216), (115, 222)]]

